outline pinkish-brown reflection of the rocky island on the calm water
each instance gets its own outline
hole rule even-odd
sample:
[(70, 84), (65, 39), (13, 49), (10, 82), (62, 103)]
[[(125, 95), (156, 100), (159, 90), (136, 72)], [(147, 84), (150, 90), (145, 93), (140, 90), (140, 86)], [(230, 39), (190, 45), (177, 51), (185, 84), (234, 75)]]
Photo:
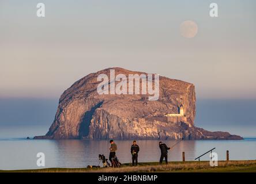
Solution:
[[(130, 147), (132, 141), (116, 140), (118, 145), (116, 155), (122, 163), (131, 162)], [(172, 147), (178, 141), (164, 141), (168, 147)], [(158, 161), (160, 158), (159, 140), (137, 140), (140, 146), (138, 160), (140, 162)], [(88, 164), (99, 164), (98, 155), (109, 155), (110, 143), (107, 140), (57, 140), (57, 163), (59, 167), (85, 167)], [(193, 160), (195, 141), (180, 141), (169, 151), (168, 159), (173, 161), (182, 160), (182, 152), (185, 151), (186, 159)]]

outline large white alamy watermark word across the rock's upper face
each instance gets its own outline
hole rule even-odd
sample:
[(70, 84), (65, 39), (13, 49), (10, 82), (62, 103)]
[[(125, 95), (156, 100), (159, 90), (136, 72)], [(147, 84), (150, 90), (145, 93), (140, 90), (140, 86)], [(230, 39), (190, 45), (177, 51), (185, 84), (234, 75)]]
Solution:
[[(97, 81), (102, 81), (97, 86), (97, 93), (100, 95), (149, 94), (149, 101), (157, 101), (159, 99), (158, 74), (129, 74), (127, 80), (127, 76), (125, 74), (118, 74), (115, 76), (115, 70), (111, 69), (110, 79), (108, 78), (107, 74), (100, 74), (97, 76)], [(116, 82), (118, 83), (116, 84)]]

